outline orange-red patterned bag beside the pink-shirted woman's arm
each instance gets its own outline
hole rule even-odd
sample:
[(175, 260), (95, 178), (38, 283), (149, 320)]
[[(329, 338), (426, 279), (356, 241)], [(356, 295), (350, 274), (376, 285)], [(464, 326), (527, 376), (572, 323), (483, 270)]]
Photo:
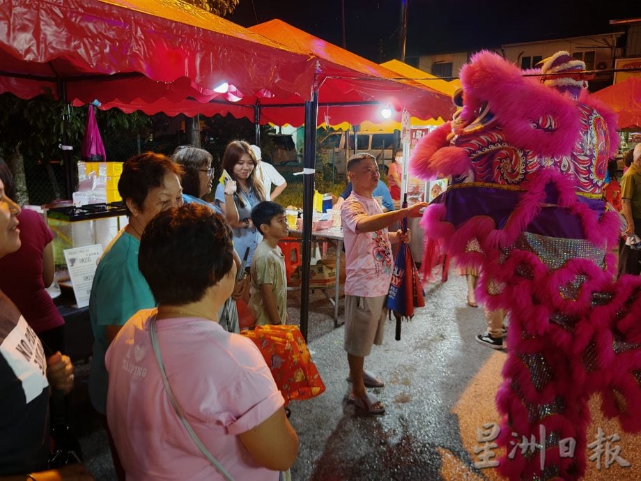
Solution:
[(285, 398), (311, 399), (325, 390), (298, 326), (256, 326), (241, 333), (256, 343)]

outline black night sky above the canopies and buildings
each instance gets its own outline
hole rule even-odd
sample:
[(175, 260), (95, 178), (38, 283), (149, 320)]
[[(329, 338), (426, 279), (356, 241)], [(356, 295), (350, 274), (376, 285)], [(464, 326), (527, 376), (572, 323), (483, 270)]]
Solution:
[[(345, 0), (347, 48), (370, 60), (398, 58), (401, 0)], [(502, 43), (622, 30), (613, 19), (641, 17), (641, 0), (409, 0), (407, 55), (458, 52)], [(341, 0), (240, 0), (227, 17), (243, 26), (280, 18), (342, 44)]]

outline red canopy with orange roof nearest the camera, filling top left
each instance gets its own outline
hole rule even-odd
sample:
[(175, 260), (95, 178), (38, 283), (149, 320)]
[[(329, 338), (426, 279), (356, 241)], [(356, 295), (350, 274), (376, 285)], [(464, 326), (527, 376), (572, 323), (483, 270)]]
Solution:
[(0, 93), (75, 103), (311, 96), (314, 61), (180, 0), (0, 0)]

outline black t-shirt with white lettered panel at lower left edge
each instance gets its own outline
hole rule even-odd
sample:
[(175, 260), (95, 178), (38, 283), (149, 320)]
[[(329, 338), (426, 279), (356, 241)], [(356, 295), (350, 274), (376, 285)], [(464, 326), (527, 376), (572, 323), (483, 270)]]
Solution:
[(0, 475), (47, 468), (49, 383), (45, 351), (0, 291)]

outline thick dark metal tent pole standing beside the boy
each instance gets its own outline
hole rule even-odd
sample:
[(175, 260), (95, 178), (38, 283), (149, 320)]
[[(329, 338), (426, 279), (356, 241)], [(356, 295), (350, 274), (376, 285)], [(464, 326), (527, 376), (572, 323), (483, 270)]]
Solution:
[(316, 164), (316, 125), (318, 121), (318, 90), (305, 102), (305, 150), (302, 188), (302, 285), (300, 291), (300, 332), (307, 342), (309, 320), (309, 264), (311, 261), (311, 220), (314, 217), (314, 165)]

